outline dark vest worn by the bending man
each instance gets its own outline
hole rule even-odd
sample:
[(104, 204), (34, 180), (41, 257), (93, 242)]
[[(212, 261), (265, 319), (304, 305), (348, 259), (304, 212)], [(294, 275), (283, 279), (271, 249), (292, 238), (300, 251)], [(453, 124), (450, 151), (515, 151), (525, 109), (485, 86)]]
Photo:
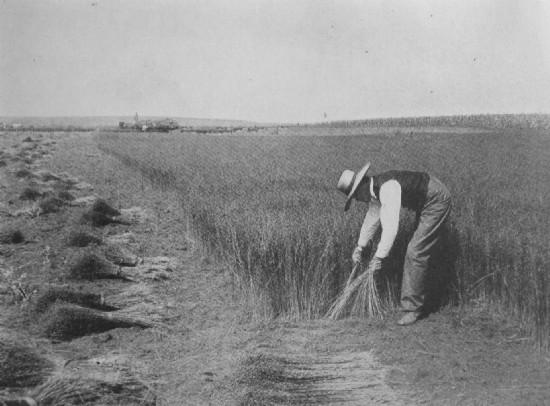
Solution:
[(426, 202), (430, 175), (426, 172), (387, 171), (372, 176), (374, 195), (380, 198), (380, 186), (395, 179), (401, 185), (401, 206), (420, 211)]

